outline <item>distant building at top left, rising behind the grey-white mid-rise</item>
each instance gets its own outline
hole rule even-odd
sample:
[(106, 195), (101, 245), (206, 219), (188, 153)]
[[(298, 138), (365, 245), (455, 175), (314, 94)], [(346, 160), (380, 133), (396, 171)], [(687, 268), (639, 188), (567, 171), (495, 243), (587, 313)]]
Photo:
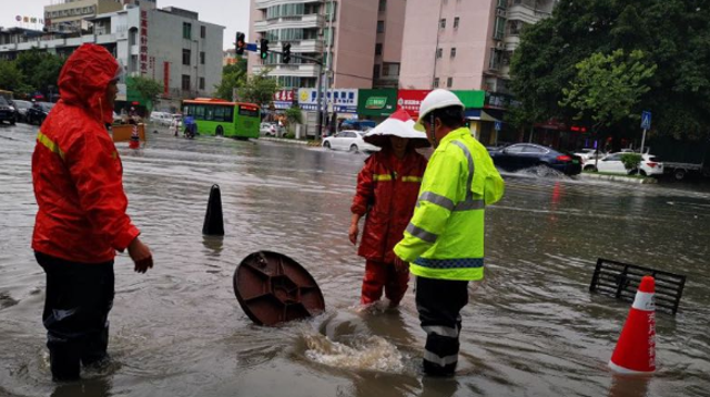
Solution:
[(44, 7), (44, 26), (52, 32), (87, 30), (89, 19), (120, 11), (124, 6), (154, 9), (155, 0), (52, 0)]

